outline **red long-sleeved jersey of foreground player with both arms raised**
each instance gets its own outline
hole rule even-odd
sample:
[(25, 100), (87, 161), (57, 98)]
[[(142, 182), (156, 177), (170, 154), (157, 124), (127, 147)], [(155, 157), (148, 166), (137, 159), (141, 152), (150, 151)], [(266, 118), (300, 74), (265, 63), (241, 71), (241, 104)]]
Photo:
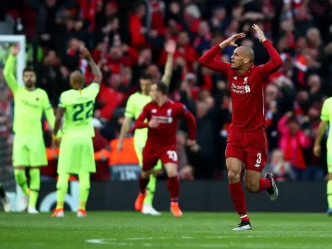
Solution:
[(270, 41), (263, 42), (271, 60), (261, 66), (251, 66), (243, 74), (231, 69), (230, 63), (215, 59), (221, 48), (216, 45), (199, 59), (209, 69), (227, 76), (232, 98), (232, 125), (240, 129), (257, 129), (266, 125), (264, 94), (266, 79), (283, 65)]

